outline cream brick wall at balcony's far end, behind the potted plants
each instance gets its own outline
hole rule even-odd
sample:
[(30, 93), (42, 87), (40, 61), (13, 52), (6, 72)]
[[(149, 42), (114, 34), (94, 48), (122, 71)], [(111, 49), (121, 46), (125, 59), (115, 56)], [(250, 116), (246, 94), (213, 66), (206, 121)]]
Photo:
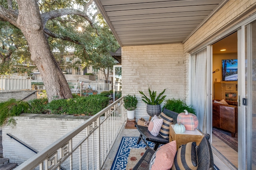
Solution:
[(157, 95), (166, 89), (166, 99), (184, 99), (184, 71), (181, 43), (122, 47), (122, 95), (136, 95), (136, 119), (149, 118), (138, 92), (148, 96), (148, 85)]

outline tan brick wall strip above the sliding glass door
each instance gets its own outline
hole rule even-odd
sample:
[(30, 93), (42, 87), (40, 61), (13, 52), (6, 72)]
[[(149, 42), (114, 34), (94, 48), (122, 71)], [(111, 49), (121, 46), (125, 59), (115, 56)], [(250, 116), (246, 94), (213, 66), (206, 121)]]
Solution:
[(210, 18), (185, 43), (184, 52), (194, 49), (197, 45), (217, 36), (234, 24), (242, 21), (256, 11), (255, 0), (230, 0), (212, 18)]

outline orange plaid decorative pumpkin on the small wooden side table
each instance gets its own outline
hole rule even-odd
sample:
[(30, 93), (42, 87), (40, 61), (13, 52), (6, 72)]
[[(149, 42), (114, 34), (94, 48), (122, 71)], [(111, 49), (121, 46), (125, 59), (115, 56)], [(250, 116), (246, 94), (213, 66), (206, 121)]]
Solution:
[(185, 113), (180, 113), (177, 117), (177, 123), (181, 123), (185, 126), (186, 130), (195, 130), (198, 127), (198, 119), (196, 115), (188, 113), (187, 110), (184, 110)]

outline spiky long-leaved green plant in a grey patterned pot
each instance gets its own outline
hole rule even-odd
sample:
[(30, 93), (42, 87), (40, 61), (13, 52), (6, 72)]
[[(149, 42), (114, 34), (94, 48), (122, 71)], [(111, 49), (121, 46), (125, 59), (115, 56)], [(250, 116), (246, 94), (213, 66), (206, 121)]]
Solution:
[(146, 97), (146, 95), (144, 95), (144, 93), (142, 91), (139, 91), (140, 94), (143, 95), (142, 98), (144, 98), (144, 99), (142, 99), (142, 101), (147, 103), (147, 113), (151, 117), (154, 115), (156, 115), (156, 116), (160, 115), (160, 113), (161, 113), (160, 104), (164, 101), (164, 98), (166, 97), (166, 95), (162, 96), (164, 94), (165, 90), (166, 89), (164, 89), (164, 91), (162, 91), (162, 93), (160, 93), (157, 97), (156, 97), (156, 91), (151, 92), (149, 87), (148, 87), (148, 92), (149, 92), (150, 97)]

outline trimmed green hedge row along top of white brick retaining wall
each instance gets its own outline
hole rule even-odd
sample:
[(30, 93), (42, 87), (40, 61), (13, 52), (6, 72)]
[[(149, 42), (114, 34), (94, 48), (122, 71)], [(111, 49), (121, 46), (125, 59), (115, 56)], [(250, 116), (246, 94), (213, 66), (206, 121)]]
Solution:
[[(104, 95), (90, 95), (88, 97), (73, 96), (73, 99), (59, 99), (48, 103), (48, 99), (34, 99), (28, 102), (9, 101), (0, 103), (0, 126), (6, 123), (8, 117), (21, 113), (59, 114), (59, 115), (95, 115), (108, 106), (109, 97)], [(9, 119), (10, 123), (12, 119)]]

